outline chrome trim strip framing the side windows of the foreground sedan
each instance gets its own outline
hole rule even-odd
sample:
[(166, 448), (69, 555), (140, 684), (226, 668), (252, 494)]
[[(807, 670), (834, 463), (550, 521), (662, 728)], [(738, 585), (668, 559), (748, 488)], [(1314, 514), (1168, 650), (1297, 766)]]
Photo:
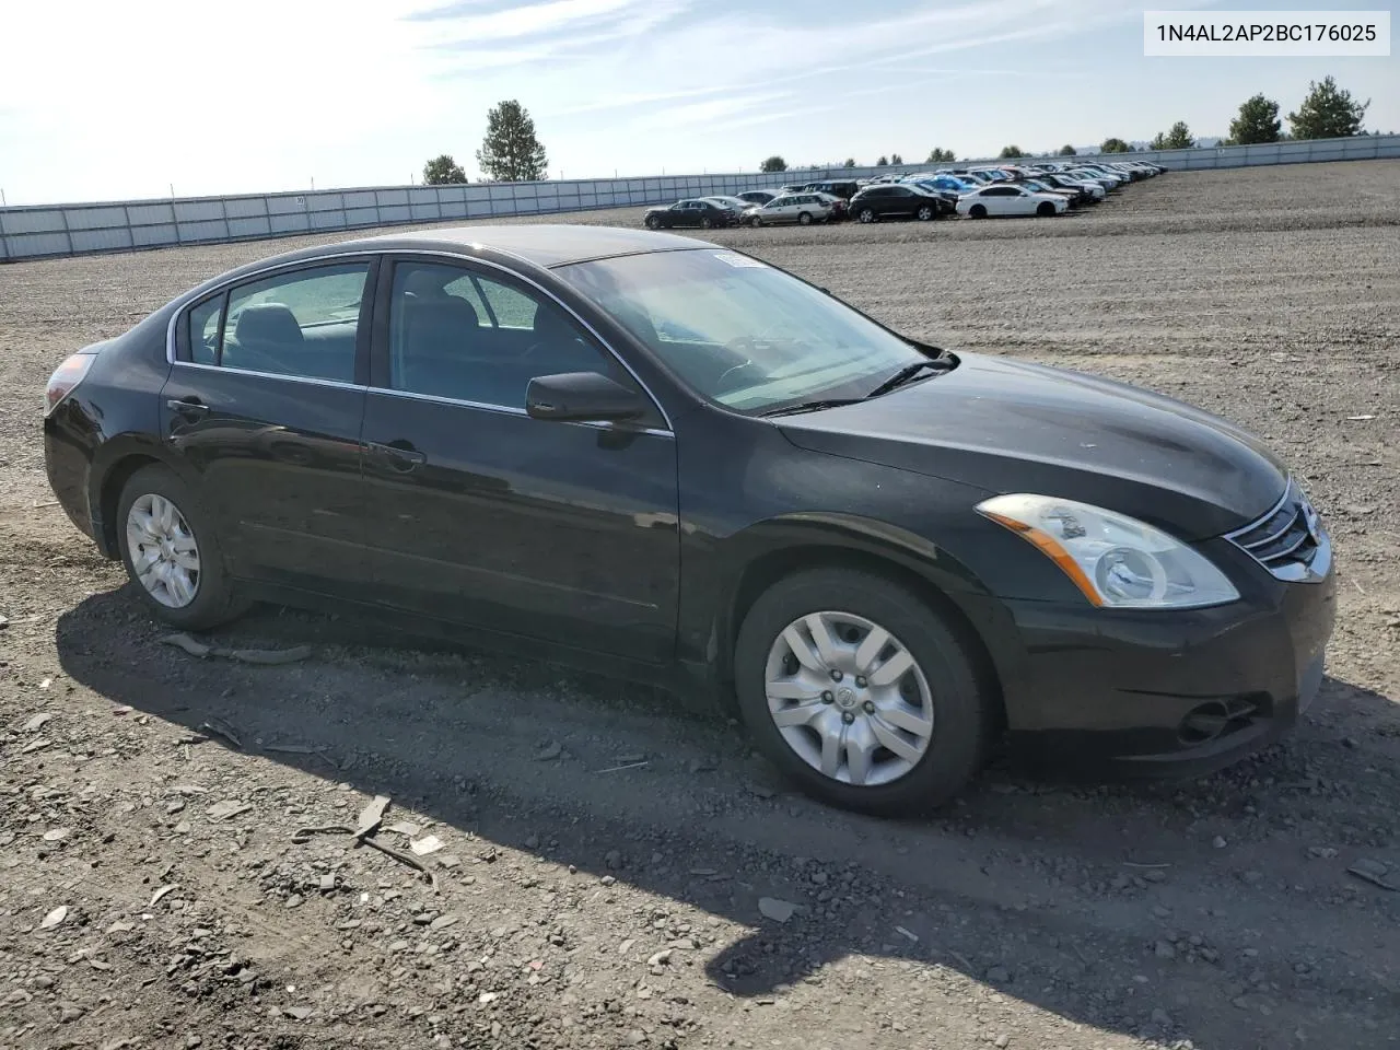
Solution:
[[(433, 258), (433, 259), (452, 259), (454, 262), (458, 262), (458, 263), (475, 263), (475, 265), (479, 265), (479, 266), (486, 266), (487, 269), (498, 270), (498, 272), (505, 273), (505, 274), (508, 274), (511, 277), (515, 277), (519, 281), (524, 281), (525, 284), (529, 284), (532, 288), (536, 288), (542, 295), (545, 295), (550, 302), (553, 302), (557, 307), (560, 307), (561, 309), (564, 309), (571, 318), (574, 318), (574, 321), (577, 321), (580, 325), (582, 325), (592, 335), (592, 337), (598, 340), (598, 344), (601, 347), (603, 347), (603, 350), (606, 350), (609, 354), (613, 356), (613, 360), (616, 360), (617, 364), (620, 364), (627, 371), (627, 374), (633, 379), (636, 379), (637, 385), (641, 386), (643, 391), (645, 391), (647, 396), (651, 399), (651, 403), (657, 406), (657, 412), (661, 413), (661, 419), (665, 420), (665, 424), (666, 424), (665, 430), (655, 428), (655, 427), (648, 427), (648, 428), (644, 428), (644, 430), (629, 430), (626, 433), (629, 433), (629, 434), (652, 434), (652, 435), (662, 435), (664, 434), (666, 437), (672, 437), (672, 438), (675, 437), (675, 426), (671, 423), (671, 416), (666, 413), (666, 409), (661, 403), (661, 399), (657, 398), (655, 393), (652, 393), (651, 388), (645, 384), (645, 381), (640, 375), (637, 375), (636, 370), (627, 363), (627, 360), (623, 358), (623, 356), (619, 354), (613, 349), (613, 346), (606, 339), (602, 337), (602, 335), (598, 332), (596, 328), (594, 328), (592, 325), (589, 325), (588, 321), (578, 314), (578, 311), (575, 311), (567, 302), (564, 302), (563, 300), (560, 300), (557, 295), (554, 295), (549, 288), (546, 288), (543, 284), (540, 284), (539, 281), (536, 281), (533, 277), (531, 277), (531, 276), (528, 276), (525, 273), (521, 273), (519, 270), (512, 270), (510, 266), (501, 266), (500, 263), (491, 262), (489, 259), (477, 259), (476, 256), (472, 256), (472, 255), (458, 255), (456, 252), (442, 252), (442, 251), (417, 249), (417, 248), (384, 248), (384, 249), (379, 249), (379, 251), (365, 251), (363, 248), (357, 248), (357, 249), (350, 251), (350, 252), (339, 252), (339, 253), (332, 253), (332, 255), (319, 255), (319, 256), (316, 256), (314, 259), (297, 259), (294, 262), (279, 263), (276, 266), (269, 266), (266, 270), (256, 270), (253, 273), (245, 273), (245, 274), (241, 274), (238, 277), (231, 277), (230, 280), (227, 280), (227, 281), (224, 281), (221, 284), (216, 284), (213, 288), (206, 288), (204, 294), (200, 295), (197, 301), (203, 302), (206, 298), (209, 298), (210, 295), (213, 295), (216, 293), (220, 293), (220, 291), (225, 293), (225, 297), (227, 297), (227, 293), (232, 287), (235, 287), (238, 284), (255, 283), (255, 281), (263, 280), (263, 279), (266, 279), (266, 277), (269, 277), (272, 274), (280, 273), (283, 270), (311, 269), (311, 267), (315, 267), (315, 266), (323, 266), (323, 265), (326, 265), (330, 260), (342, 260), (343, 262), (343, 260), (356, 259), (356, 258), (361, 258), (361, 256), (365, 258), (365, 259), (368, 259), (371, 263), (375, 262), (375, 260), (382, 262), (386, 256), (391, 256), (393, 259), (402, 259), (403, 256), (423, 256), (423, 258)], [(179, 323), (181, 318), (188, 316), (190, 305), (193, 305), (193, 302), (189, 298), (185, 302), (181, 302), (181, 305), (175, 309), (175, 312), (171, 314), (169, 325), (167, 325), (167, 329), (165, 329), (165, 360), (171, 365), (181, 365), (183, 368), (206, 368), (206, 370), (210, 370), (210, 371), (238, 372), (241, 375), (256, 375), (256, 377), (267, 378), (267, 379), (293, 379), (295, 382), (309, 382), (309, 384), (322, 384), (322, 385), (326, 385), (326, 386), (342, 386), (342, 388), (349, 388), (349, 389), (374, 391), (377, 393), (392, 393), (392, 395), (403, 396), (403, 398), (419, 398), (421, 400), (444, 402), (444, 403), (448, 403), (448, 405), (462, 405), (462, 406), (469, 407), (469, 409), (490, 409), (493, 412), (501, 412), (504, 414), (511, 414), (511, 416), (517, 416), (517, 414), (518, 416), (525, 416), (525, 414), (528, 414), (524, 409), (514, 409), (514, 407), (504, 406), (504, 405), (482, 405), (479, 402), (458, 400), (458, 399), (454, 399), (454, 398), (438, 398), (438, 396), (428, 395), (428, 393), (410, 393), (407, 391), (391, 391), (386, 386), (371, 386), (368, 384), (346, 384), (346, 382), (336, 382), (333, 379), (316, 379), (316, 378), (307, 377), (307, 375), (281, 375), (281, 374), (277, 374), (277, 372), (255, 372), (255, 371), (249, 371), (249, 370), (244, 370), (244, 368), (224, 368), (223, 365), (209, 365), (209, 364), (196, 364), (193, 361), (181, 361), (181, 360), (176, 360), (176, 356), (175, 356), (175, 326), (176, 326), (176, 323)], [(225, 301), (225, 304), (224, 304), (224, 314), (225, 315), (227, 315), (227, 309), (228, 309), (228, 304)], [(223, 322), (220, 322), (220, 323), (223, 323)], [(615, 430), (615, 428), (617, 428), (616, 424), (613, 424), (613, 423), (577, 423), (575, 426), (594, 427), (594, 428), (598, 428), (598, 430), (610, 430), (610, 428)]]

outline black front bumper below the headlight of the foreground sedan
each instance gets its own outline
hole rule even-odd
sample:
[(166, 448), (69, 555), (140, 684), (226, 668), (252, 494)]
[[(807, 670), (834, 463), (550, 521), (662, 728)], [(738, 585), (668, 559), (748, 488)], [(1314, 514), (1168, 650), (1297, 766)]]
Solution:
[(1285, 584), (1236, 570), (1254, 585), (1212, 609), (1004, 602), (1021, 643), (1001, 668), (1015, 749), (1091, 776), (1200, 776), (1287, 734), (1322, 685), (1336, 573)]

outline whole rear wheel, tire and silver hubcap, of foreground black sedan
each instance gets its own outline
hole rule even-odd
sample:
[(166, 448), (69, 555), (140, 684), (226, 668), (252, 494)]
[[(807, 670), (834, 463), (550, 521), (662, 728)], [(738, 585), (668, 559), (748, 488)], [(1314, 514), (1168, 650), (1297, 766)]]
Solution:
[(118, 542), (146, 608), (165, 623), (206, 630), (242, 612), (211, 515), (169, 468), (144, 466), (126, 482)]

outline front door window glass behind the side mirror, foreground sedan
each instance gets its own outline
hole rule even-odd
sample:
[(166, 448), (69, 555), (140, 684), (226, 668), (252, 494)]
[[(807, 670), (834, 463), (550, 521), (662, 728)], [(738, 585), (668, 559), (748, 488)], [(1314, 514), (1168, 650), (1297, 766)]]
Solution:
[(533, 288), (459, 266), (395, 266), (391, 389), (524, 410), (529, 381), (559, 372), (617, 378), (612, 357)]

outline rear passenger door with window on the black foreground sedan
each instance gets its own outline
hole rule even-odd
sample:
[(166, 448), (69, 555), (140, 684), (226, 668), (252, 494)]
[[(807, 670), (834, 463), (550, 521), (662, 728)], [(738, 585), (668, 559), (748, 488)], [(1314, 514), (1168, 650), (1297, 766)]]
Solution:
[(364, 580), (360, 427), (374, 256), (249, 279), (179, 315), (161, 434), (230, 570), (328, 594)]

